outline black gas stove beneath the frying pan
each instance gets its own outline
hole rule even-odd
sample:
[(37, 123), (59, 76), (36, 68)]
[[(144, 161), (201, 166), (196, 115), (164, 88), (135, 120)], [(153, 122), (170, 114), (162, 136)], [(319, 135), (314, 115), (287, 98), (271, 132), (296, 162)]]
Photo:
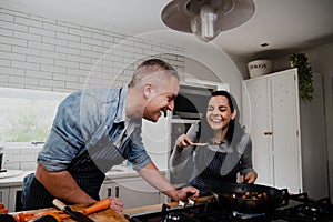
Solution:
[(169, 208), (135, 214), (131, 222), (333, 222), (333, 206), (329, 198), (311, 200), (306, 193), (289, 194), (284, 204), (262, 213), (242, 213), (223, 208), (214, 199), (192, 206)]

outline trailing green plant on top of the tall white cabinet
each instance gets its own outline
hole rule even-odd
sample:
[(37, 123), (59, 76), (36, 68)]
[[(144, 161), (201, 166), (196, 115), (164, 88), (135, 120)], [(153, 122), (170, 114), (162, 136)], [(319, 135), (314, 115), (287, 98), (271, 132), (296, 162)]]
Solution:
[(313, 80), (307, 57), (304, 53), (292, 53), (290, 62), (292, 67), (297, 68), (300, 98), (304, 102), (310, 102), (313, 98)]

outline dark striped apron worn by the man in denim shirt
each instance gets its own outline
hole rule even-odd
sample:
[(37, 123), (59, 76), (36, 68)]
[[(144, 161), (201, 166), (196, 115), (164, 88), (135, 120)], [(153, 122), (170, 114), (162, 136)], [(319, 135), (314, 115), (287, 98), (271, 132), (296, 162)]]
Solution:
[[(124, 161), (124, 158), (110, 140), (110, 138), (117, 138), (117, 133), (121, 132), (119, 128), (124, 128), (123, 122), (113, 123), (111, 127), (100, 125), (85, 143), (87, 150), (75, 157), (67, 169), (77, 184), (94, 200), (100, 200), (99, 191), (104, 181), (105, 172)], [(128, 145), (130, 142), (129, 138), (122, 145)], [(23, 210), (51, 208), (53, 206), (53, 199), (54, 196), (34, 178), (33, 173), (24, 178)]]

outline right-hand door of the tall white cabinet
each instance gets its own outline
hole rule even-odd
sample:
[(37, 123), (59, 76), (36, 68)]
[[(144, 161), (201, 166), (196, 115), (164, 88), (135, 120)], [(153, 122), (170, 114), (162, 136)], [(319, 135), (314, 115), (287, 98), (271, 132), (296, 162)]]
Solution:
[(268, 78), (271, 88), (272, 150), (274, 185), (299, 193), (302, 189), (300, 112), (296, 71)]

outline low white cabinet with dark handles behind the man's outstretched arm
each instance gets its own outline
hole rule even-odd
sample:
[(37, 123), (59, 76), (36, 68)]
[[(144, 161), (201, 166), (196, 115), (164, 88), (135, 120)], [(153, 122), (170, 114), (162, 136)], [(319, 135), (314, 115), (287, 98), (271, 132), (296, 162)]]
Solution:
[(124, 209), (162, 203), (163, 194), (140, 176), (105, 179), (100, 190), (100, 198), (120, 198)]

